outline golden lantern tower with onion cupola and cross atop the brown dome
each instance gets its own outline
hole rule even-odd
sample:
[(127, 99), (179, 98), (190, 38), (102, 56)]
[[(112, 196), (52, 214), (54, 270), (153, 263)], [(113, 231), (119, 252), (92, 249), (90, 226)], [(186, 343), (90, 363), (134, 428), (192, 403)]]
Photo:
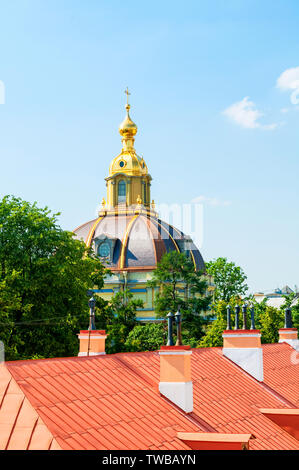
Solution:
[[(132, 207), (135, 204), (150, 207), (150, 181), (146, 163), (137, 155), (134, 148), (137, 125), (132, 121), (129, 111), (129, 91), (127, 95), (126, 117), (119, 126), (122, 136), (122, 150), (113, 158), (109, 166), (107, 182), (107, 208), (109, 210), (121, 206)], [(138, 199), (138, 202), (137, 202)]]

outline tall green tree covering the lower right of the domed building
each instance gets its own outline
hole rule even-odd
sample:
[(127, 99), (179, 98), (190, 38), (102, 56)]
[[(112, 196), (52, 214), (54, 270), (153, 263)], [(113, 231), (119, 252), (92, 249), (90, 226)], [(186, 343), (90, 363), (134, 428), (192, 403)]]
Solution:
[(182, 314), (182, 336), (194, 345), (203, 334), (204, 316), (211, 298), (206, 295), (207, 282), (184, 253), (166, 253), (153, 271), (150, 287), (159, 288), (155, 297), (155, 312), (165, 317), (178, 309)]

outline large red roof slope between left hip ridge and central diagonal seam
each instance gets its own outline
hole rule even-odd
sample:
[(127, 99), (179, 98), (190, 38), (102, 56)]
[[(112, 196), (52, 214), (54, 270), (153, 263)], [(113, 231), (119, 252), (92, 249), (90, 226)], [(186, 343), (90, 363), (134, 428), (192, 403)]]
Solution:
[(177, 431), (199, 429), (117, 355), (7, 367), (63, 449), (189, 449)]

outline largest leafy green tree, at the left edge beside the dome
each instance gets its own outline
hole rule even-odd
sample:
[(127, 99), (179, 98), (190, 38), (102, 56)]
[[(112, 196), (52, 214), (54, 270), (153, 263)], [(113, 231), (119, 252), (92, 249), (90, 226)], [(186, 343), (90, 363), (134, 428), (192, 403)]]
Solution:
[(57, 216), (13, 196), (0, 201), (0, 339), (6, 359), (77, 354), (90, 287), (106, 270)]

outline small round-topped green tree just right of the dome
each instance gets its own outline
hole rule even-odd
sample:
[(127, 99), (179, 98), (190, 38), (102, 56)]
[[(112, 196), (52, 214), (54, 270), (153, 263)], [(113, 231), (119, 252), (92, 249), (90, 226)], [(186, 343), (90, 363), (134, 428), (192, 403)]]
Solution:
[(247, 276), (239, 266), (226, 258), (217, 258), (206, 263), (207, 273), (213, 277), (215, 299), (229, 302), (232, 297), (243, 296), (248, 290)]

